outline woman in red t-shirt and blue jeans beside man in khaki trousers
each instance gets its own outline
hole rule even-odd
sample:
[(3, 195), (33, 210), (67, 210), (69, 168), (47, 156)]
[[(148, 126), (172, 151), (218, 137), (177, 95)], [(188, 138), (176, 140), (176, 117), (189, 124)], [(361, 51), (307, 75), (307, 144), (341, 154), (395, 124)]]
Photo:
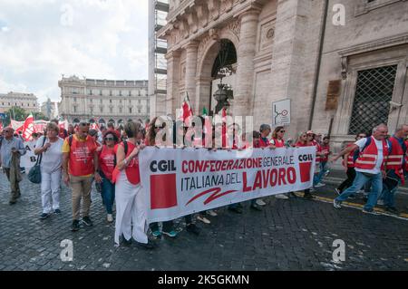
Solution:
[(115, 200), (115, 184), (112, 181), (113, 169), (115, 169), (115, 145), (118, 143), (118, 136), (111, 130), (107, 130), (103, 135), (102, 149), (99, 151), (99, 174), (102, 177), (102, 200), (108, 214), (107, 220), (113, 222), (112, 207)]

